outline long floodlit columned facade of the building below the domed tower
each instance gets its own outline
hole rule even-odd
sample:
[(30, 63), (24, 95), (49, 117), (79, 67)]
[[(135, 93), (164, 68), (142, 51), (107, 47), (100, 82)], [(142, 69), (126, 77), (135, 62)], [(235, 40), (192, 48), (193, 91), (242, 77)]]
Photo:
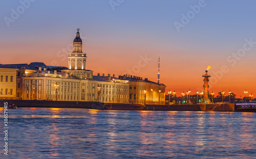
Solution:
[(129, 81), (110, 76), (80, 80), (63, 72), (23, 74), (24, 99), (128, 103)]

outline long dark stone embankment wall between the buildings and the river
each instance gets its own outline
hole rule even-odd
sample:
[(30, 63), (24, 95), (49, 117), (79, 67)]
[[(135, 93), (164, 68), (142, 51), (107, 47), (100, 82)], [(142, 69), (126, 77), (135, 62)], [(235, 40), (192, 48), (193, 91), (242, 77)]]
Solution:
[(17, 108), (87, 108), (99, 110), (145, 110), (145, 111), (237, 111), (234, 103), (231, 104), (182, 104), (182, 105), (142, 105), (101, 103), (90, 101), (55, 101), (55, 100), (8, 100), (1, 99), (0, 105), (15, 103)]

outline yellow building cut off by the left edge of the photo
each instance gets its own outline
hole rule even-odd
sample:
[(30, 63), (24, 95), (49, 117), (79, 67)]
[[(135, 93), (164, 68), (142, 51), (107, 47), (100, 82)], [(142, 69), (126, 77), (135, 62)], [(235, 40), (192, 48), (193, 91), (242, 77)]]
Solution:
[(0, 66), (0, 99), (16, 99), (17, 70)]

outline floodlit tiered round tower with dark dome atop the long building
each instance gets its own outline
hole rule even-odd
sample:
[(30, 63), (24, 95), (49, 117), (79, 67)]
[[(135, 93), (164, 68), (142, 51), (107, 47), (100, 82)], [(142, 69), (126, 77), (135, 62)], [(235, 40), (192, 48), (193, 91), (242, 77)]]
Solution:
[(68, 70), (62, 72), (82, 79), (92, 79), (93, 71), (86, 69), (86, 53), (82, 52), (82, 39), (80, 38), (79, 28), (73, 41), (73, 52), (69, 53)]

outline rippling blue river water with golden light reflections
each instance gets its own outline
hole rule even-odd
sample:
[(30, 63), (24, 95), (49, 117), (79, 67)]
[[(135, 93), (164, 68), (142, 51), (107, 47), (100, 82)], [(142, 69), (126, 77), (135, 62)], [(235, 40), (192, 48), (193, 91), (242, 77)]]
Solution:
[(256, 113), (1, 108), (0, 158), (256, 158)]

